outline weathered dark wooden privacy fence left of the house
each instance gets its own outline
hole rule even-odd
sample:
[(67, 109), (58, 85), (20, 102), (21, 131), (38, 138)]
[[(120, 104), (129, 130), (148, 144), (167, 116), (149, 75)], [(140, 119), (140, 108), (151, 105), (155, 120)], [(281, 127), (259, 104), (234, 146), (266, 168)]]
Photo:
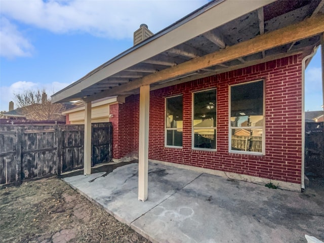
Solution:
[[(111, 160), (111, 123), (92, 124), (92, 166)], [(0, 184), (82, 169), (84, 125), (0, 127)]]

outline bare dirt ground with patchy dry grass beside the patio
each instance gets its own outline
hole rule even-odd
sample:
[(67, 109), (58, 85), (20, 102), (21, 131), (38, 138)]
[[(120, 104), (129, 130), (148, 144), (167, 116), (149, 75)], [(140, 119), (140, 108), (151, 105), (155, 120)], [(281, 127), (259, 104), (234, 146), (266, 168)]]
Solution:
[(0, 189), (0, 242), (150, 242), (52, 177)]

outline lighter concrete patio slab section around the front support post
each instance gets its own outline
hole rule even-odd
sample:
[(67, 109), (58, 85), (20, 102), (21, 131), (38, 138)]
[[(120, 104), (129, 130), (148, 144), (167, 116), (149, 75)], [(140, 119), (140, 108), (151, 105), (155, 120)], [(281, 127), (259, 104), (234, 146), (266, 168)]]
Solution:
[(198, 172), (151, 165), (149, 198), (138, 200), (138, 164), (116, 168), (113, 172), (64, 178), (73, 188), (102, 205), (119, 221), (130, 225), (200, 175)]

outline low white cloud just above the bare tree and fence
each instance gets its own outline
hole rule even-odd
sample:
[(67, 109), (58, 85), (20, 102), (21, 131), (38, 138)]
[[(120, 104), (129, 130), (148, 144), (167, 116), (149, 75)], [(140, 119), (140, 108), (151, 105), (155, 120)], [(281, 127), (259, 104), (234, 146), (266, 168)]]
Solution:
[[(9, 87), (2, 86), (0, 89), (0, 104), (1, 108), (0, 110), (6, 110), (8, 111), (9, 108), (9, 102), (14, 101), (15, 103), (15, 94), (21, 94), (27, 90), (46, 90), (46, 93), (50, 96), (54, 94), (54, 92), (57, 92), (69, 84), (67, 83), (59, 83), (59, 82), (53, 82), (51, 84), (37, 84), (33, 82), (26, 82), (26, 81), (19, 81), (14, 84), (12, 84)], [(15, 105), (15, 109), (17, 106)]]

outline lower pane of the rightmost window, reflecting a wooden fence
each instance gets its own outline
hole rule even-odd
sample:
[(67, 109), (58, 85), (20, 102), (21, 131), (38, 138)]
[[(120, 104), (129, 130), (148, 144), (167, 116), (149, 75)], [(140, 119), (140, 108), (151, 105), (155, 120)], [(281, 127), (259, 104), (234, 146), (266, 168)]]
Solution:
[(232, 150), (262, 152), (262, 129), (232, 129)]

